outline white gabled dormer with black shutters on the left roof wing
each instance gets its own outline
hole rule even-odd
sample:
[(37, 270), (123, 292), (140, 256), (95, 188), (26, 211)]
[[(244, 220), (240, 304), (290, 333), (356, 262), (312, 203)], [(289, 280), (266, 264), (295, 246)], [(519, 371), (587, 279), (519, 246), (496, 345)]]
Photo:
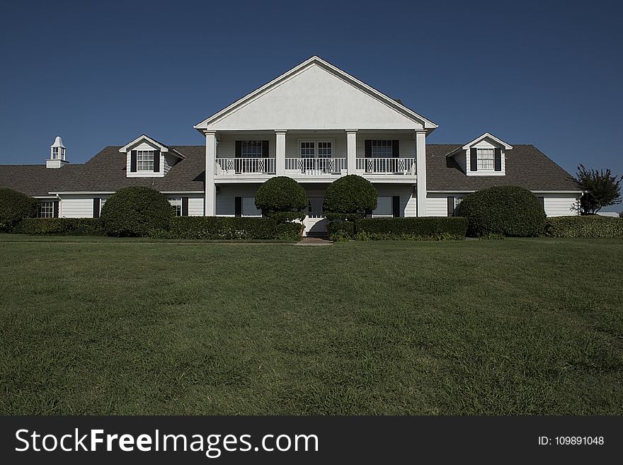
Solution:
[(127, 178), (161, 178), (184, 156), (143, 134), (119, 149), (127, 154)]

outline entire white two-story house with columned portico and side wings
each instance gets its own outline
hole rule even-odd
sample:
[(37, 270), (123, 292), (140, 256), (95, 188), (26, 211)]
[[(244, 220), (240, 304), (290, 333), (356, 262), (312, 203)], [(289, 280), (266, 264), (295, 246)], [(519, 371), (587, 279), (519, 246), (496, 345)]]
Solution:
[(311, 57), (195, 125), (205, 146), (171, 147), (142, 135), (72, 165), (57, 138), (46, 166), (0, 166), (0, 187), (38, 197), (40, 216), (97, 217), (105, 199), (128, 185), (159, 190), (180, 215), (261, 216), (259, 185), (289, 176), (307, 192), (307, 234), (325, 230), (324, 192), (347, 174), (375, 185), (373, 217), (452, 216), (462, 197), (493, 185), (531, 190), (549, 216), (578, 214), (578, 185), (532, 145), (489, 133), (427, 144), (436, 127)]

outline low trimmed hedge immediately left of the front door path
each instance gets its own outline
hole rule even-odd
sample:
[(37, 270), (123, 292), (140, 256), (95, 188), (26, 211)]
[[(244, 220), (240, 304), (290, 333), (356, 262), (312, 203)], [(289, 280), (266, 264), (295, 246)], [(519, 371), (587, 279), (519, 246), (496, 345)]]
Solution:
[(302, 225), (269, 218), (175, 217), (168, 230), (152, 231), (162, 239), (273, 239), (299, 241)]

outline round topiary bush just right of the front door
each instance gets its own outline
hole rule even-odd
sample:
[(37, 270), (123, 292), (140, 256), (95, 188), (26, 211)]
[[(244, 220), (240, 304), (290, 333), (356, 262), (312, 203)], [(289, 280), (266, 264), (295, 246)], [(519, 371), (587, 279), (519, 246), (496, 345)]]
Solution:
[(364, 216), (377, 207), (377, 190), (369, 180), (349, 174), (328, 185), (324, 194), (327, 217), (348, 219)]

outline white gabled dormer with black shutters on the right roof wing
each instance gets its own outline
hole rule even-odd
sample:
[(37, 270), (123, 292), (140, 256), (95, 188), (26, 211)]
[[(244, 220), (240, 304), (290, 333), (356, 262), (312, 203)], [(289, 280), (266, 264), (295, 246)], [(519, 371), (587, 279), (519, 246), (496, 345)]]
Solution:
[(463, 147), (450, 152), (467, 176), (505, 176), (509, 144), (485, 132)]

